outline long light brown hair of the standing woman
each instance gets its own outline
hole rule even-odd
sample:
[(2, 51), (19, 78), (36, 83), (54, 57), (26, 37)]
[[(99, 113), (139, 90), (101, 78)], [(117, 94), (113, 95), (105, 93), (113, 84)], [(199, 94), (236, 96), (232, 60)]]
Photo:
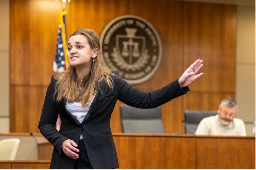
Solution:
[(69, 66), (67, 71), (57, 73), (54, 76), (54, 79), (57, 80), (54, 97), (56, 101), (66, 98), (69, 103), (80, 102), (83, 106), (87, 106), (97, 92), (100, 81), (104, 80), (113, 89), (112, 77), (115, 75), (104, 65), (99, 52), (99, 36), (93, 30), (80, 29), (71, 34), (70, 37), (74, 35), (84, 35), (90, 48), (97, 49), (97, 57), (92, 62), (91, 72), (85, 75), (82, 80), (78, 80), (73, 66)]

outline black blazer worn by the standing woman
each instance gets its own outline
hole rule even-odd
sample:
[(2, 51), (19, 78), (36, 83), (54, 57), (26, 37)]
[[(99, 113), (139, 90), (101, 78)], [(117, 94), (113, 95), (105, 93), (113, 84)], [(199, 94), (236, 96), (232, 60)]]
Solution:
[[(119, 72), (116, 71), (115, 74), (119, 75)], [(63, 153), (62, 143), (71, 139), (78, 144), (80, 134), (94, 169), (118, 168), (110, 129), (110, 117), (117, 99), (133, 107), (155, 108), (189, 91), (188, 87), (181, 89), (178, 80), (151, 92), (138, 90), (119, 77), (114, 77), (113, 82), (113, 90), (105, 81), (100, 82), (100, 90), (98, 89), (86, 117), (80, 123), (66, 110), (66, 99), (61, 102), (52, 100), (56, 83), (52, 76), (38, 125), (42, 135), (54, 146), (50, 169), (74, 169), (76, 160)], [(55, 129), (58, 114), (61, 120), (59, 131)]]

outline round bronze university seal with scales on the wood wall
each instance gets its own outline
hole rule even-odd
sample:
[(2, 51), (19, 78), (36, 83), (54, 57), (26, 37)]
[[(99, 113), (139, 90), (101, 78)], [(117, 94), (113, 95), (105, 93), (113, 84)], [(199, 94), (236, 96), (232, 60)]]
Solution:
[(162, 44), (152, 24), (137, 15), (122, 15), (106, 24), (100, 34), (106, 65), (130, 84), (150, 79), (158, 69)]

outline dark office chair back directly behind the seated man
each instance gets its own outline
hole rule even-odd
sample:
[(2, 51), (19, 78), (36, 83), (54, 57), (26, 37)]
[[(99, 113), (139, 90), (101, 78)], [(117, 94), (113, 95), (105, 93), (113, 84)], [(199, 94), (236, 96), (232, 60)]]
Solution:
[(195, 134), (197, 126), (200, 121), (209, 116), (217, 115), (218, 111), (185, 111), (185, 120), (183, 120), (185, 133), (186, 134)]

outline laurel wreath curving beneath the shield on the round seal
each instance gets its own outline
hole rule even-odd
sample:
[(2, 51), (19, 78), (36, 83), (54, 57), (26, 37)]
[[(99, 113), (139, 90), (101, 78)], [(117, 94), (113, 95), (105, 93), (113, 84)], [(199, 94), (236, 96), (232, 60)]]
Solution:
[(126, 71), (140, 70), (141, 68), (145, 67), (145, 65), (148, 63), (148, 59), (150, 58), (150, 55), (148, 55), (148, 49), (145, 49), (145, 52), (141, 54), (141, 57), (139, 57), (139, 59), (135, 63), (128, 64), (124, 60), (124, 58), (118, 54), (116, 47), (113, 48), (113, 52), (111, 53), (111, 56), (113, 57), (112, 61), (115, 62), (116, 66)]

